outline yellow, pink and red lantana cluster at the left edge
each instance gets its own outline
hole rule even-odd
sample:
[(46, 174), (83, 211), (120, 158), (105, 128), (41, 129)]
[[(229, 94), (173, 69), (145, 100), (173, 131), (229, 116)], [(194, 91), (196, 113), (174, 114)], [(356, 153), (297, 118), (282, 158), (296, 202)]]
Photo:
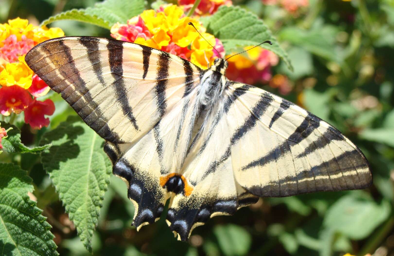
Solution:
[(48, 126), (55, 105), (52, 100), (37, 100), (49, 91), (48, 85), (24, 61), (33, 46), (45, 40), (62, 37), (60, 28), (33, 26), (25, 19), (8, 20), (0, 24), (0, 113), (22, 113), (34, 129)]

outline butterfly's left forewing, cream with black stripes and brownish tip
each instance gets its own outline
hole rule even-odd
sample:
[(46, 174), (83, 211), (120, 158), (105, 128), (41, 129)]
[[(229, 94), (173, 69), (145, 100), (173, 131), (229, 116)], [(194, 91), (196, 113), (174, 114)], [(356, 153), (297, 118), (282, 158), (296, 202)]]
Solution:
[(113, 39), (64, 37), (37, 45), (26, 63), (101, 137), (145, 135), (199, 79), (176, 56)]

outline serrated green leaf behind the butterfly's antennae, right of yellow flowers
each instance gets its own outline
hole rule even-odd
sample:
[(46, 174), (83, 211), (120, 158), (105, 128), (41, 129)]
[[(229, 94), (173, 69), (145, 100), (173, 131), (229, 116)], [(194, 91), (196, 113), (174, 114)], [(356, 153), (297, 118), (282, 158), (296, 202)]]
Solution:
[(227, 54), (240, 47), (254, 46), (269, 40), (272, 45), (262, 44), (261, 47), (275, 52), (287, 67), (293, 70), (286, 52), (264, 22), (253, 13), (238, 6), (221, 6), (212, 18), (204, 20), (204, 23), (208, 24), (208, 32), (213, 33), (223, 43)]

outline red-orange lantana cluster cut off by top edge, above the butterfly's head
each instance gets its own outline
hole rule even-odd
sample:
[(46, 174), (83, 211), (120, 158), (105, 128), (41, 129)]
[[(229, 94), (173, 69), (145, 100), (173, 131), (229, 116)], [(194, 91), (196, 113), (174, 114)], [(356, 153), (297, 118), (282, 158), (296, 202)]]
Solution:
[[(178, 0), (178, 6), (188, 13), (196, 0)], [(232, 6), (231, 0), (201, 0), (193, 16), (212, 15), (220, 6)]]

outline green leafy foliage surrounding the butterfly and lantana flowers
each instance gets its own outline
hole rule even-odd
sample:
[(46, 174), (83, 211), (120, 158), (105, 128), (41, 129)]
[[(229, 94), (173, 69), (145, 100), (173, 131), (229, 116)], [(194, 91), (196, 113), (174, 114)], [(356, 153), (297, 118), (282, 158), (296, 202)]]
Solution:
[[(1, 0), (0, 22), (21, 17), (60, 27), (66, 35), (110, 37), (113, 23), (151, 4)], [(56, 245), (60, 255), (72, 256), (394, 255), (394, 2), (309, 0), (297, 17), (261, 0), (233, 4), (242, 9), (225, 7), (203, 18), (208, 32), (223, 41), (227, 53), (272, 33), (277, 40), (270, 49), (281, 56), (273, 74), (286, 74), (294, 85), (285, 98), (358, 145), (370, 161), (374, 185), (264, 198), (233, 216), (214, 217), (196, 228), (188, 243), (173, 237), (164, 218), (137, 233), (130, 227), (134, 207), (126, 185), (110, 174), (102, 139), (59, 95), (49, 93), (56, 111), (48, 128), (32, 132), (20, 116), (15, 126), (2, 121), (13, 130), (0, 154), (0, 255), (56, 255)], [(223, 28), (221, 17), (229, 13), (244, 17), (243, 23)], [(260, 24), (263, 32), (249, 29), (251, 24)]]

